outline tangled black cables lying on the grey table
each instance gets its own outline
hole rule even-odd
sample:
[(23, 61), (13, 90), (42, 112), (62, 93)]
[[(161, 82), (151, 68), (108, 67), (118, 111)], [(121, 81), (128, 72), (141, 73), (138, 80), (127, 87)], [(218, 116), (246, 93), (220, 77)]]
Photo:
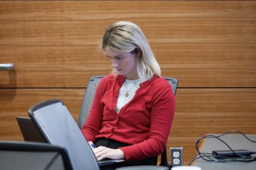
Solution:
[[(246, 135), (244, 135), (244, 133), (238, 131), (238, 130), (231, 130), (231, 131), (228, 131), (226, 133), (223, 133), (219, 136), (214, 136), (214, 135), (205, 135), (205, 136), (202, 136), (201, 138), (198, 139), (198, 141), (195, 143), (195, 148), (197, 150), (197, 154), (192, 158), (192, 160), (189, 162), (189, 165), (195, 161), (196, 159), (204, 159), (205, 161), (216, 161), (216, 162), (232, 162), (232, 161), (236, 161), (236, 162), (250, 162), (250, 161), (255, 161), (256, 160), (256, 157), (253, 157), (253, 156), (243, 156), (243, 155), (240, 155), (239, 153), (236, 153), (226, 142), (224, 142), (223, 140), (221, 140), (219, 137), (221, 136), (224, 136), (228, 133), (240, 133), (241, 135), (243, 135), (247, 140), (249, 140), (250, 142), (254, 142), (256, 143), (256, 141), (253, 141), (253, 140), (250, 140)], [(230, 158), (230, 157), (225, 157), (225, 156), (214, 156), (212, 155), (212, 153), (201, 153), (198, 149), (198, 144), (199, 142), (204, 139), (204, 138), (216, 138), (218, 139), (219, 141), (221, 141), (222, 143), (224, 143), (233, 153), (235, 153), (237, 156), (240, 156), (240, 157), (236, 157), (236, 158)], [(255, 152), (252, 152), (252, 154), (254, 154)], [(199, 156), (199, 157), (197, 157)]]

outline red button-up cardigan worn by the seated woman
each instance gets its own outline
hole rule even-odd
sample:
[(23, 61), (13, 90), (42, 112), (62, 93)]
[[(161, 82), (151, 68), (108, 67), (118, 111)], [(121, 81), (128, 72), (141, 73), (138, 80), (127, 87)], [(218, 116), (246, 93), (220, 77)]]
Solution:
[(131, 146), (120, 147), (125, 160), (160, 155), (165, 149), (175, 110), (175, 98), (166, 79), (154, 76), (140, 83), (135, 96), (119, 114), (116, 103), (125, 78), (104, 77), (96, 90), (93, 105), (82, 133), (87, 141), (113, 139)]

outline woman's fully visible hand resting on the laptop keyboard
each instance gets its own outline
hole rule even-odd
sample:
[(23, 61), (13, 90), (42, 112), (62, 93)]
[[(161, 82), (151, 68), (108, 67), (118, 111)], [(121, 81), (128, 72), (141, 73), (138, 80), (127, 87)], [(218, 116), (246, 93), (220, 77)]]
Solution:
[(99, 146), (93, 149), (93, 153), (97, 160), (100, 161), (105, 158), (109, 159), (122, 159), (125, 155), (121, 149), (111, 149), (108, 147)]

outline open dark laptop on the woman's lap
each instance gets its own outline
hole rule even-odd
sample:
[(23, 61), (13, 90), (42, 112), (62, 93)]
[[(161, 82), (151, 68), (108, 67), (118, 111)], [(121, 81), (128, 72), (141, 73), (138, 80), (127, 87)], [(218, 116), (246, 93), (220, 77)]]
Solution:
[[(16, 117), (23, 139), (26, 142), (45, 142), (34, 122), (28, 117)], [(125, 161), (124, 159), (103, 159), (99, 166)]]

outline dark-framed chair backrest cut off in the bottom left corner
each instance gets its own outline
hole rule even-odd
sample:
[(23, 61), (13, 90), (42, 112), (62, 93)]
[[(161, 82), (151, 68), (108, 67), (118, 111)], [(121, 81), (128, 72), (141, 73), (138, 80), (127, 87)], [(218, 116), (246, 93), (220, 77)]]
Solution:
[(40, 142), (0, 141), (0, 170), (73, 170), (63, 147)]

